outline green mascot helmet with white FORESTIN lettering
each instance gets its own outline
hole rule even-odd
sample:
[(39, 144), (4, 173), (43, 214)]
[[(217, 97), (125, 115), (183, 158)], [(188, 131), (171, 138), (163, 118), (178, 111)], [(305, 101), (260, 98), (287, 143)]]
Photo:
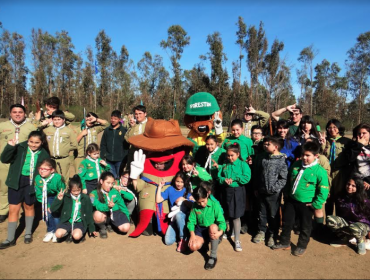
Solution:
[(198, 92), (190, 96), (186, 102), (186, 115), (210, 116), (220, 111), (216, 98), (208, 92)]

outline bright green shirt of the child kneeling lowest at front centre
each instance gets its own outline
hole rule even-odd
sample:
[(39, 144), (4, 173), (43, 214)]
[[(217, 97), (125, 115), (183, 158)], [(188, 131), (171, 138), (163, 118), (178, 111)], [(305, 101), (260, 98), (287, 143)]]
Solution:
[(204, 208), (196, 202), (193, 203), (187, 224), (189, 231), (197, 234), (197, 231), (195, 231), (196, 227), (204, 229), (213, 224), (218, 225), (219, 230), (226, 230), (226, 221), (221, 206), (211, 199), (208, 199), (207, 205)]

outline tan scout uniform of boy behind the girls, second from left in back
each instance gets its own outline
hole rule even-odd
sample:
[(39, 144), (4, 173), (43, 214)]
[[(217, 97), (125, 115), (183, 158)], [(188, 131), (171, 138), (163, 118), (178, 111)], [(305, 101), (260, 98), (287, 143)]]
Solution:
[(57, 172), (67, 183), (71, 165), (69, 153), (77, 149), (76, 134), (65, 124), (58, 128), (48, 126), (44, 129), (44, 133), (49, 144), (50, 156), (57, 163)]

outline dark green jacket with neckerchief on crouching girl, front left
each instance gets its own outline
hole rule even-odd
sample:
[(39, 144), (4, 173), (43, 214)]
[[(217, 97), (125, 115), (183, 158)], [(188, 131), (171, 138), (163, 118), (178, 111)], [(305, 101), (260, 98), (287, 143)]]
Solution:
[(87, 230), (90, 233), (95, 231), (93, 207), (86, 194), (81, 193), (78, 197), (74, 197), (70, 193), (66, 193), (62, 200), (54, 200), (50, 210), (52, 213), (61, 213), (58, 229), (72, 232), (73, 229), (78, 228), (83, 234)]

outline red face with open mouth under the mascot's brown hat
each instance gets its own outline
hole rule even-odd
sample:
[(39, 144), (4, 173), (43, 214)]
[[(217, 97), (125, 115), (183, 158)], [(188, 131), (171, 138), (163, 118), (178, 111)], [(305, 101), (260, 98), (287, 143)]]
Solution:
[(175, 176), (180, 171), (181, 159), (189, 153), (188, 150), (179, 147), (164, 152), (145, 151), (144, 173), (157, 177)]

